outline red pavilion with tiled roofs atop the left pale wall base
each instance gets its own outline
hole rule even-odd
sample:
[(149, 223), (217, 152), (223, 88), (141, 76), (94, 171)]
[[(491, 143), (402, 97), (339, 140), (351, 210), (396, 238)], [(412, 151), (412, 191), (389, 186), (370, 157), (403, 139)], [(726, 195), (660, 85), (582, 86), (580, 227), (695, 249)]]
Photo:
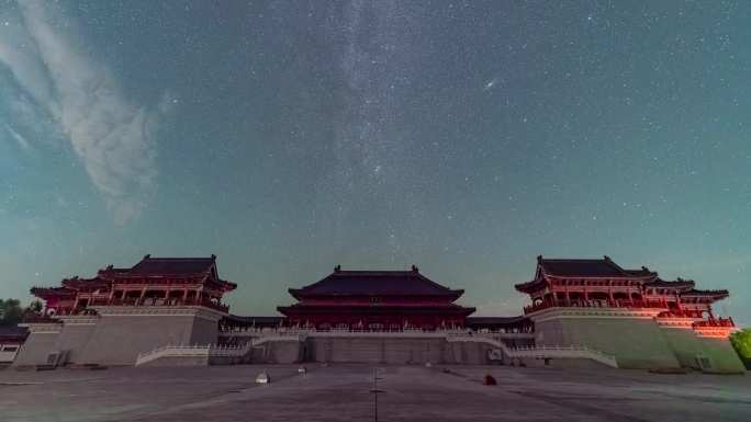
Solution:
[(222, 295), (237, 285), (221, 280), (216, 256), (144, 256), (132, 269), (112, 265), (93, 278), (64, 278), (61, 287), (33, 287), (31, 293), (44, 299), (44, 315), (88, 313), (97, 306), (205, 306), (227, 311)]

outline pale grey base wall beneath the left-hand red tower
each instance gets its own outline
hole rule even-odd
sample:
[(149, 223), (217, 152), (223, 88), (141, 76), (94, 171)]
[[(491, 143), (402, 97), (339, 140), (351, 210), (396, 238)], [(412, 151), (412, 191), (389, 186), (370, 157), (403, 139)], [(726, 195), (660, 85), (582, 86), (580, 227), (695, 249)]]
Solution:
[(139, 353), (191, 344), (193, 316), (102, 315), (77, 364), (134, 365)]

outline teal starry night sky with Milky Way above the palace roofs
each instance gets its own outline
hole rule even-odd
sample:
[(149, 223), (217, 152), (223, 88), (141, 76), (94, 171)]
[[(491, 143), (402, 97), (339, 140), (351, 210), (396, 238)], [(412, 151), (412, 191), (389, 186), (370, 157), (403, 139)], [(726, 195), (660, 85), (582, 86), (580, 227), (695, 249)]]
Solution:
[(514, 316), (536, 256), (751, 326), (751, 2), (0, 1), (0, 297), (217, 258), (233, 313), (407, 270)]

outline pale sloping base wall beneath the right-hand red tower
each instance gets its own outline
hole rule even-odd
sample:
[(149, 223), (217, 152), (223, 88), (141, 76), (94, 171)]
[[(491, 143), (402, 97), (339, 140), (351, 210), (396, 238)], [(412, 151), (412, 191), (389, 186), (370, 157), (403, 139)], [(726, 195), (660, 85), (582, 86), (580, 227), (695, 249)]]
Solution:
[(538, 345), (589, 346), (614, 355), (624, 369), (681, 366), (653, 319), (557, 318), (536, 322), (535, 330)]

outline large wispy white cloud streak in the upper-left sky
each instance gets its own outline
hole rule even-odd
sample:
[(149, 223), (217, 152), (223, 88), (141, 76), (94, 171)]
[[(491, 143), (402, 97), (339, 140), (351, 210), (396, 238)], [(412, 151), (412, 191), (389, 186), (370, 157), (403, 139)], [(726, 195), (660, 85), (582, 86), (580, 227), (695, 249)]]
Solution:
[(114, 221), (137, 218), (156, 190), (156, 132), (164, 107), (130, 102), (115, 75), (82, 52), (75, 21), (53, 3), (20, 0), (18, 5), (22, 14), (0, 28), (0, 62), (54, 117)]

